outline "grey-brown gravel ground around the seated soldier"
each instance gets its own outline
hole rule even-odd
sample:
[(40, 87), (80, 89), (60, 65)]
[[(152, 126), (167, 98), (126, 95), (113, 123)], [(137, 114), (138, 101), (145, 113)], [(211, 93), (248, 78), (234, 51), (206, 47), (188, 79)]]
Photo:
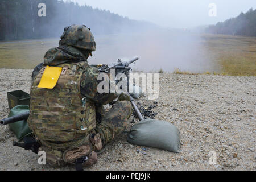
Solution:
[[(0, 118), (9, 113), (7, 94), (30, 92), (31, 70), (0, 69)], [(160, 74), (156, 119), (174, 123), (180, 130), (179, 154), (146, 147), (136, 152), (120, 135), (88, 170), (255, 170), (256, 78)], [(143, 96), (138, 102), (154, 104)], [(132, 121), (134, 117), (130, 118)], [(137, 119), (135, 119), (137, 121)], [(14, 134), (0, 127), (0, 170), (74, 170), (39, 165), (38, 156), (12, 146)], [(210, 165), (209, 152), (217, 164)]]

